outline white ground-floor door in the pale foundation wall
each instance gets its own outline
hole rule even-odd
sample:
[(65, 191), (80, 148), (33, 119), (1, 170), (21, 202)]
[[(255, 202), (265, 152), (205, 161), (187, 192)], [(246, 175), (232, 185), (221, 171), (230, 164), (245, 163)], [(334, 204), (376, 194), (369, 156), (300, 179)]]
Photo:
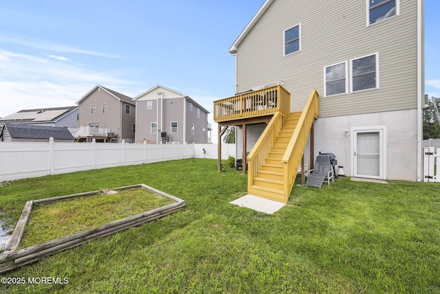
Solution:
[(384, 129), (353, 130), (355, 177), (384, 179)]

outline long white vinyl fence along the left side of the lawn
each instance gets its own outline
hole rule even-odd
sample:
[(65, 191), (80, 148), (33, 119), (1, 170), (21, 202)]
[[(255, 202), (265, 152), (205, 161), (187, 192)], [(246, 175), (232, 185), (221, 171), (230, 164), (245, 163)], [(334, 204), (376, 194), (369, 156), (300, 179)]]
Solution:
[[(235, 144), (222, 144), (221, 153), (235, 157)], [(192, 157), (217, 159), (217, 144), (0, 142), (0, 183)]]

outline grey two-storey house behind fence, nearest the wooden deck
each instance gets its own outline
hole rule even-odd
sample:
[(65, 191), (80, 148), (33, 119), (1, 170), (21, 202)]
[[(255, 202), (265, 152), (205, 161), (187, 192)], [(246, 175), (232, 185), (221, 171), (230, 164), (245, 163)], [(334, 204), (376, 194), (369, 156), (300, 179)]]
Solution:
[(188, 95), (158, 84), (134, 100), (136, 142), (210, 143), (209, 111)]

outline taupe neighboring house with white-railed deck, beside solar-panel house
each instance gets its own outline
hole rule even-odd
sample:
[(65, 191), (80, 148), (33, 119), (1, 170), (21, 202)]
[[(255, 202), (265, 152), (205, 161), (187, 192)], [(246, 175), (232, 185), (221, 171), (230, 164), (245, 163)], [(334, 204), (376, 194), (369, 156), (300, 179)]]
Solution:
[(72, 132), (77, 140), (135, 142), (135, 102), (129, 96), (96, 85), (76, 104), (80, 129)]

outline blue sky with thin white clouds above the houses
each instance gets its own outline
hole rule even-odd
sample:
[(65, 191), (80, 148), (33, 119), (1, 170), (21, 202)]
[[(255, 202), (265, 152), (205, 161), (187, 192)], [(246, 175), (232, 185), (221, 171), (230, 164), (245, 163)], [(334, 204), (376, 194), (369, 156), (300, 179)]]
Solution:
[[(263, 3), (0, 0), (0, 117), (75, 105), (96, 84), (131, 97), (162, 84), (212, 111), (234, 95), (228, 49)], [(440, 97), (440, 1), (425, 8), (426, 93)]]

